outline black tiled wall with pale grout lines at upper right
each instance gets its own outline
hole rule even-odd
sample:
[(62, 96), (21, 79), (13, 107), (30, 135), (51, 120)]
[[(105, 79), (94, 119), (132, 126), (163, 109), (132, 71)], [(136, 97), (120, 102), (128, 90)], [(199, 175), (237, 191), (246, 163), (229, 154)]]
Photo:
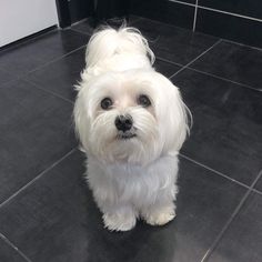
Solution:
[(131, 0), (131, 13), (262, 48), (262, 0)]

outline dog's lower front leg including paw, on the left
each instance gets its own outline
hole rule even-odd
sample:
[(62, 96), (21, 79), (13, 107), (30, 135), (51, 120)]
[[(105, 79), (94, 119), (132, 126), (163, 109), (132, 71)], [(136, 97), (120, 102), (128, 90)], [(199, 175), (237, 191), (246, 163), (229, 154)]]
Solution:
[(137, 213), (132, 206), (119, 205), (103, 213), (104, 226), (112, 231), (128, 231), (134, 228)]

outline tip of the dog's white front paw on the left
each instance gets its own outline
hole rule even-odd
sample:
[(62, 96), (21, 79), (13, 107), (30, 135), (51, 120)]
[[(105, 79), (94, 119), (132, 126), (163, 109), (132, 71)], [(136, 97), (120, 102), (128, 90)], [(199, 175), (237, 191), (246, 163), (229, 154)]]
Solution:
[(111, 231), (129, 231), (134, 228), (135, 222), (137, 218), (134, 214), (103, 214), (104, 228)]

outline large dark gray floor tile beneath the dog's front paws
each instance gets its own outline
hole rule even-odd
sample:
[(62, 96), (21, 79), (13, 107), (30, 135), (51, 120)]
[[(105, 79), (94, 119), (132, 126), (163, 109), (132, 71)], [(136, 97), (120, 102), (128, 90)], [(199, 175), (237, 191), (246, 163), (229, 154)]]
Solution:
[(112, 233), (85, 185), (83, 162), (72, 153), (0, 209), (0, 231), (32, 261), (200, 261), (245, 192), (181, 159), (178, 218)]

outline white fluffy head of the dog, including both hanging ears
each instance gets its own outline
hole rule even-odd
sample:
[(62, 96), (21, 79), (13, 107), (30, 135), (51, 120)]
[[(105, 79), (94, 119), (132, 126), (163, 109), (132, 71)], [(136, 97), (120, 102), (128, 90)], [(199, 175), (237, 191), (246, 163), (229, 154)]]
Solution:
[(145, 164), (163, 151), (178, 151), (188, 128), (178, 89), (154, 71), (82, 82), (74, 119), (84, 149), (107, 162)]

